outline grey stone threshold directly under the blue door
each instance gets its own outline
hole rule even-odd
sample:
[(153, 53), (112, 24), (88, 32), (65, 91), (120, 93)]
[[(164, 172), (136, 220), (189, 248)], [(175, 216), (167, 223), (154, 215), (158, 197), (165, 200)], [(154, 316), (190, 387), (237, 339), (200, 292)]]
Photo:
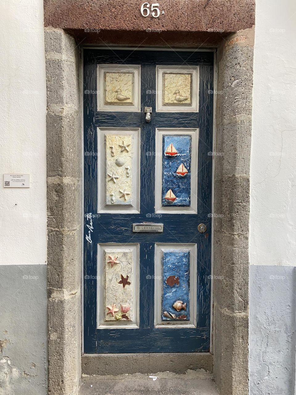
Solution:
[(81, 370), (88, 375), (174, 372), (188, 369), (213, 372), (213, 355), (208, 352), (172, 352), (150, 354), (84, 354)]

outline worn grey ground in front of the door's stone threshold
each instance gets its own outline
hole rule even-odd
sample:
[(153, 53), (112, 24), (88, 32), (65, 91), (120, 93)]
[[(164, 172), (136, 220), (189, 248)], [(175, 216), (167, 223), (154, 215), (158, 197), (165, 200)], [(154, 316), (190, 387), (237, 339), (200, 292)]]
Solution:
[[(156, 380), (149, 376), (157, 376)], [(211, 374), (187, 371), (122, 376), (82, 376), (79, 395), (219, 395)]]

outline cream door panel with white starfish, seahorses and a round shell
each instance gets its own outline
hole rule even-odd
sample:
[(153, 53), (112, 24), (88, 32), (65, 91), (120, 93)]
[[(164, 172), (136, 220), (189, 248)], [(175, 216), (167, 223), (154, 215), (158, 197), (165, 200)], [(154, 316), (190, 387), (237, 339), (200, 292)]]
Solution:
[(133, 135), (105, 134), (105, 204), (132, 203)]

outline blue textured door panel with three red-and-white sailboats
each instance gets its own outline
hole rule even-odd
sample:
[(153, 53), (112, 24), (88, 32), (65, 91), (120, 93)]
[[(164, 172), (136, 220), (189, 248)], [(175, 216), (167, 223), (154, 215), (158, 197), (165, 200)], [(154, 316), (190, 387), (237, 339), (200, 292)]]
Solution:
[[(171, 146), (172, 144), (172, 146)], [(167, 149), (169, 147), (169, 153)], [(177, 153), (174, 154), (174, 148)], [(170, 153), (170, 151), (173, 152)], [(187, 173), (179, 172), (183, 166)], [(162, 159), (162, 205), (163, 206), (190, 206), (190, 179), (191, 179), (191, 136), (189, 135), (164, 135)], [(169, 198), (166, 198), (168, 191)], [(174, 196), (176, 197), (175, 200)]]

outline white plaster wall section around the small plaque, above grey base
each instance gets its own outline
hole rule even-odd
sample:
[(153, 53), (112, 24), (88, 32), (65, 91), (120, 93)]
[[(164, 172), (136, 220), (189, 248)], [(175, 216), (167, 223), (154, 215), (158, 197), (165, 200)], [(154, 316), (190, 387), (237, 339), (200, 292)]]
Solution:
[[(43, 1), (2, 0), (0, 26), (0, 264), (45, 264)], [(4, 173), (30, 173), (30, 188), (4, 189)]]

